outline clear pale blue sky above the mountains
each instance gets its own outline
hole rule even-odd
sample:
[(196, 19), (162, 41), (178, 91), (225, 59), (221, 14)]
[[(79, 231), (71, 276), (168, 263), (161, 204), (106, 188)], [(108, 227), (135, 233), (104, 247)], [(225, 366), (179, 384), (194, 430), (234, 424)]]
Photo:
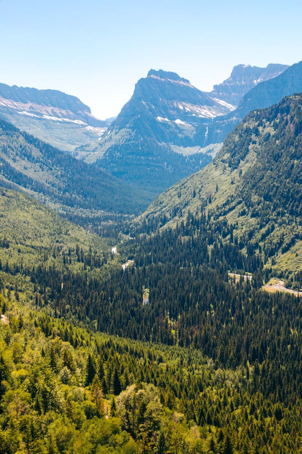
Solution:
[(99, 118), (150, 68), (202, 90), (235, 64), (302, 60), (301, 1), (0, 0), (0, 82), (58, 89)]

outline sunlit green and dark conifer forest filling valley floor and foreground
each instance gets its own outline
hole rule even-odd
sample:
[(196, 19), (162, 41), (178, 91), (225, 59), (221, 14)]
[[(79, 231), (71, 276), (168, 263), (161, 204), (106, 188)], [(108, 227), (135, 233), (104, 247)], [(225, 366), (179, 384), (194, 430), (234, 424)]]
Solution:
[(301, 298), (262, 290), (225, 219), (112, 255), (22, 194), (1, 212), (1, 454), (301, 451)]

